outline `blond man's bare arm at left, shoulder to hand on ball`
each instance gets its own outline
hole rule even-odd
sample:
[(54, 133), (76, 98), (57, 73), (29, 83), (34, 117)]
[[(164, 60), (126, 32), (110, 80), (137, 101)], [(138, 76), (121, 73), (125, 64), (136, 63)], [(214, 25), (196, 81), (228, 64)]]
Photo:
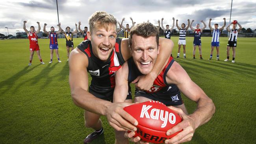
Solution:
[(86, 111), (107, 116), (110, 126), (117, 131), (136, 130), (132, 124), (137, 125), (137, 120), (122, 109), (131, 103), (111, 103), (88, 92), (87, 66), (88, 58), (83, 52), (78, 48), (72, 50), (69, 55), (69, 85), (74, 103)]

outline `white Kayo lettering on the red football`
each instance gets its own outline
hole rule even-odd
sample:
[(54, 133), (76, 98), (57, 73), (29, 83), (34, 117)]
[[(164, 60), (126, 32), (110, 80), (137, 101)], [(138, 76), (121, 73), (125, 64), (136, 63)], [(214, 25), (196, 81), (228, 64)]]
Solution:
[[(148, 110), (152, 107), (152, 105), (143, 105), (141, 108), (141, 118), (151, 118), (154, 120), (161, 120), (163, 121), (163, 124), (161, 125), (161, 128), (165, 127), (167, 125), (167, 122), (171, 124), (175, 124), (176, 122), (176, 116), (173, 113), (169, 113), (168, 111), (160, 110), (160, 109), (151, 109), (150, 114), (148, 113)], [(165, 113), (165, 114), (164, 114)]]

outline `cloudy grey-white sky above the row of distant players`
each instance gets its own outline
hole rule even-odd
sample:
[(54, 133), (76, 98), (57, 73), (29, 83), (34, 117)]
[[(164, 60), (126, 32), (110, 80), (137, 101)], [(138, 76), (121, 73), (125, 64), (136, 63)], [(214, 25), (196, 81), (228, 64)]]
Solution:
[[(1, 0), (0, 5), (0, 33), (15, 35), (17, 31), (24, 31), (23, 21), (27, 20), (26, 28), (35, 26), (36, 22), (47, 23), (57, 28), (58, 17), (56, 0)], [(88, 17), (95, 11), (106, 11), (124, 24), (132, 24), (130, 17), (136, 23), (150, 20), (158, 25), (157, 20), (163, 17), (163, 23), (172, 24), (172, 17), (187, 24), (187, 19), (194, 19), (195, 24), (209, 18), (212, 24), (223, 25), (223, 18), (227, 23), (230, 17), (231, 0), (58, 0), (59, 21), (64, 29), (67, 26), (75, 28), (75, 22), (82, 22), (82, 28), (88, 26)], [(256, 0), (233, 0), (231, 20), (237, 20), (242, 27), (256, 29)], [(176, 26), (174, 27), (176, 28)], [(208, 28), (209, 29), (209, 28)]]

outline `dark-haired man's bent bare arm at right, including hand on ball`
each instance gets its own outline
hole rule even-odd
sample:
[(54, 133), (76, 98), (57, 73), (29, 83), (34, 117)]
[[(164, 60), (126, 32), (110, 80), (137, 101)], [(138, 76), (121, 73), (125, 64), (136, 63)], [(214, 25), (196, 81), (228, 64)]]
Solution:
[(197, 109), (192, 114), (185, 114), (181, 109), (170, 106), (181, 117), (182, 122), (167, 131), (167, 135), (180, 131), (175, 137), (165, 140), (167, 143), (182, 143), (190, 141), (195, 133), (195, 129), (208, 122), (215, 113), (213, 101), (198, 87), (187, 75), (187, 72), (176, 62), (173, 63), (167, 72), (167, 83), (174, 83), (180, 91), (190, 100), (197, 103)]

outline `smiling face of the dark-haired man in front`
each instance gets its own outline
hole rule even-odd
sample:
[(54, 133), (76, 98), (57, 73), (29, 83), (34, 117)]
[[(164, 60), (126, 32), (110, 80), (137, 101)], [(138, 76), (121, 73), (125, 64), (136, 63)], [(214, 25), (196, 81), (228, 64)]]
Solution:
[(151, 72), (159, 54), (156, 36), (142, 37), (136, 34), (132, 37), (132, 57), (134, 63), (142, 74)]

